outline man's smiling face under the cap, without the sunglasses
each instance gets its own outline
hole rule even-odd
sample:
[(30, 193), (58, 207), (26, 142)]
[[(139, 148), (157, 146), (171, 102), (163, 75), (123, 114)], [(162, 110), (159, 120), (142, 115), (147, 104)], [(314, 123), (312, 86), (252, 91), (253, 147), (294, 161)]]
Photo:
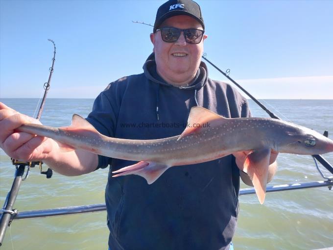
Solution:
[[(194, 18), (189, 16), (174, 16), (166, 19), (160, 27), (176, 27), (180, 29), (197, 28), (202, 26)], [(199, 44), (189, 44), (185, 41), (183, 32), (174, 43), (166, 43), (162, 40), (161, 31), (150, 34), (150, 40), (154, 45), (157, 72), (168, 83), (184, 85), (195, 76), (201, 61), (203, 52), (204, 35)]]

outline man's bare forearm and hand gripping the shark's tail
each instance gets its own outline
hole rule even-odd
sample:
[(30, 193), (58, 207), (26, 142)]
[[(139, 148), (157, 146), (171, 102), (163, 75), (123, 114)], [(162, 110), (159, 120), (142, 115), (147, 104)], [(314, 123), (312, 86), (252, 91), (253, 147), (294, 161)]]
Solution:
[(62, 152), (50, 138), (17, 130), (27, 123), (41, 124), (0, 102), (0, 148), (10, 157), (22, 161), (43, 160), (54, 171), (69, 176), (87, 174), (96, 169), (97, 154), (84, 150)]

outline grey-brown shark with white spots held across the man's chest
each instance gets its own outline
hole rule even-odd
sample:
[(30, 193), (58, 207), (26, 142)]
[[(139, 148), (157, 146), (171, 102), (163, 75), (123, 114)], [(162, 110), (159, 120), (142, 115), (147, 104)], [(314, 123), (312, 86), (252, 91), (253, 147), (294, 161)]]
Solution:
[(164, 139), (107, 137), (78, 115), (73, 115), (72, 124), (68, 127), (26, 124), (18, 130), (52, 138), (63, 150), (82, 149), (112, 158), (138, 161), (114, 171), (114, 177), (140, 175), (148, 184), (172, 166), (202, 163), (250, 150), (243, 171), (250, 176), (261, 203), (265, 198), (272, 150), (293, 154), (333, 151), (331, 139), (307, 127), (271, 118), (224, 118), (202, 107), (191, 108), (188, 126), (181, 135)]

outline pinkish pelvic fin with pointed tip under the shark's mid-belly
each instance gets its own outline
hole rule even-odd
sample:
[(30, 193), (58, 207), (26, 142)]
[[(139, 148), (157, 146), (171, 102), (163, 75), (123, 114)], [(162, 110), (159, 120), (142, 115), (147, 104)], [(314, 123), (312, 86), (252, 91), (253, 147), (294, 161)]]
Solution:
[(140, 161), (134, 165), (124, 167), (117, 171), (112, 172), (112, 177), (122, 176), (122, 175), (140, 175), (147, 180), (148, 184), (153, 183), (157, 180), (170, 166), (157, 163), (157, 162), (146, 162)]

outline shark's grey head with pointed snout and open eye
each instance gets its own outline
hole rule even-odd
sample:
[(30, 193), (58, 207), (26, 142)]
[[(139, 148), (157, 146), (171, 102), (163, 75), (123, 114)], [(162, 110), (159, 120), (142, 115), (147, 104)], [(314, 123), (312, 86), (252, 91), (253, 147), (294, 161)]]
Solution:
[(324, 154), (333, 152), (333, 140), (315, 130), (298, 126), (286, 132), (279, 151), (294, 154)]

